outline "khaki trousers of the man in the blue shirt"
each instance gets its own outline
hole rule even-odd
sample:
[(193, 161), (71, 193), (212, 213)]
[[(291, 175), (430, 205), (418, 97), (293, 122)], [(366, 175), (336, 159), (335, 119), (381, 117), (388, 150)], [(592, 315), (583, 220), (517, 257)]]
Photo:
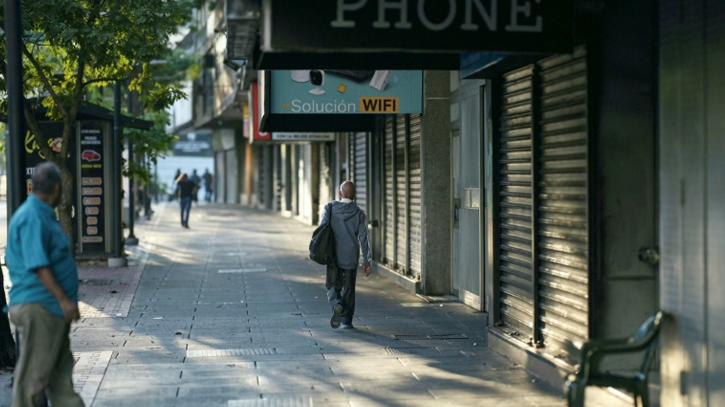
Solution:
[(85, 407), (73, 390), (70, 324), (42, 305), (13, 305), (10, 320), (20, 333), (20, 359), (15, 366), (12, 407)]

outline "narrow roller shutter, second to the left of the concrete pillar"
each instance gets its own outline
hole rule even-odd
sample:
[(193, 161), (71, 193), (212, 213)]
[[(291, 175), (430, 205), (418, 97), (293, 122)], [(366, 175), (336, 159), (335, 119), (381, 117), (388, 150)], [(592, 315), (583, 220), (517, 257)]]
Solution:
[(398, 270), (407, 272), (408, 264), (408, 184), (406, 182), (406, 128), (405, 115), (396, 118), (395, 139), (395, 186), (396, 186), (396, 231), (398, 235), (396, 262)]

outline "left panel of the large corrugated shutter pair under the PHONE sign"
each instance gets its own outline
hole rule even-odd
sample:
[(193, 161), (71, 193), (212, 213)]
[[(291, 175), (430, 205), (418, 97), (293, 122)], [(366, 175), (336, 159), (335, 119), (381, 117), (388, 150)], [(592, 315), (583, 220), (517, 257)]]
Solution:
[(533, 330), (533, 66), (502, 78), (499, 152), (500, 320)]

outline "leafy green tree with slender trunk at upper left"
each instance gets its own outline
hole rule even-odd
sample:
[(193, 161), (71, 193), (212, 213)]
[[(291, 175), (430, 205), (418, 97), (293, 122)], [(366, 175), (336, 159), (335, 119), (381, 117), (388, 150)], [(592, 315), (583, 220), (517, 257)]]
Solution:
[[(26, 99), (24, 115), (41, 152), (63, 174), (60, 223), (73, 236), (73, 177), (66, 164), (70, 139), (84, 97), (94, 89), (128, 80), (149, 111), (185, 97), (174, 83), (156, 80), (151, 62), (169, 54), (169, 36), (191, 17), (194, 0), (34, 0), (22, 2), (23, 69), (26, 95), (62, 120), (59, 152), (40, 129)], [(4, 12), (4, 10), (3, 10)], [(4, 13), (3, 13), (4, 15)], [(3, 22), (4, 24), (4, 22)], [(5, 39), (0, 46), (0, 90), (6, 89)], [(0, 106), (2, 107), (2, 106)]]

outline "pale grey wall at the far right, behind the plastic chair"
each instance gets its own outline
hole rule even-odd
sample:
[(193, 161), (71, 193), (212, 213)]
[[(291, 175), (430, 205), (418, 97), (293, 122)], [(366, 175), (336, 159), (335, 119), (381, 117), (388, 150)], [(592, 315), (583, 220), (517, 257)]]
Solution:
[(725, 3), (660, 2), (663, 407), (725, 406)]

